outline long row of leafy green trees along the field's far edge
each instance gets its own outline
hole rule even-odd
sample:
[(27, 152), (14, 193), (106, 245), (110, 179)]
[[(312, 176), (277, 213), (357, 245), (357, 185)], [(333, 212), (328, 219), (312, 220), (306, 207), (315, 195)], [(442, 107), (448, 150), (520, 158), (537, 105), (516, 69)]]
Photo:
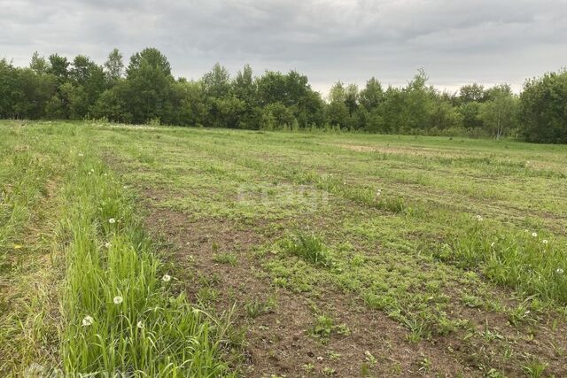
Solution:
[(325, 128), (381, 134), (513, 136), (567, 143), (567, 71), (528, 80), (520, 95), (508, 84), (463, 86), (456, 93), (428, 84), (419, 70), (404, 87), (376, 78), (359, 89), (338, 81), (323, 98), (307, 76), (248, 65), (231, 77), (219, 64), (197, 81), (175, 78), (157, 49), (128, 66), (114, 49), (104, 65), (37, 52), (28, 67), (0, 60), (0, 118), (105, 119), (124, 123), (247, 129)]

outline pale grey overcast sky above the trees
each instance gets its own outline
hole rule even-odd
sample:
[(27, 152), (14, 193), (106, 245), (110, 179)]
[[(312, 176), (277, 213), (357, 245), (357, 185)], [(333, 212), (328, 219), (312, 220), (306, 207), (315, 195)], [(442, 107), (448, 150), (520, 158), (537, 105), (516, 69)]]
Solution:
[(439, 89), (509, 82), (567, 66), (567, 0), (0, 0), (0, 57), (33, 51), (102, 63), (156, 47), (175, 75), (215, 62), (236, 73), (296, 69), (326, 94), (376, 76), (404, 85), (420, 67)]

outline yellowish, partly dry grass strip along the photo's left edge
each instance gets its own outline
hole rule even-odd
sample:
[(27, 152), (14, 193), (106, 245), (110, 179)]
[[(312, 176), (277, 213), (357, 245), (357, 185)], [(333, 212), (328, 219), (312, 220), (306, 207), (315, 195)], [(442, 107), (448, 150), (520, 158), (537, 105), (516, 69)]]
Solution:
[(0, 376), (53, 364), (57, 299), (50, 288), (49, 182), (59, 163), (34, 131), (12, 122), (0, 139)]

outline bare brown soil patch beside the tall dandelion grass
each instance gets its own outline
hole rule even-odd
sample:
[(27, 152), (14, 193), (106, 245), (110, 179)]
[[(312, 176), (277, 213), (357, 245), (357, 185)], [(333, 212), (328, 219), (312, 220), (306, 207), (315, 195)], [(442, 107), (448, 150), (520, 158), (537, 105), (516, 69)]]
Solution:
[[(235, 325), (245, 330), (246, 359), (240, 366), (245, 376), (477, 373), (462, 366), (450, 348), (408, 343), (407, 332), (399, 323), (383, 312), (369, 311), (345, 293), (321, 288), (319, 296), (313, 297), (275, 288), (261, 274), (260, 262), (252, 253), (253, 247), (268, 242), (254, 228), (246, 230), (229, 220), (190, 222), (189, 214), (146, 204), (147, 227), (173, 247), (168, 258), (180, 267), (180, 278), (190, 282), (191, 300), (202, 300), (201, 290), (206, 287), (215, 291), (211, 302), (216, 312), (236, 304)], [(234, 266), (215, 261), (215, 255), (224, 253), (237, 256)], [(257, 316), (246, 310), (269, 300), (274, 305)], [(315, 337), (315, 319), (322, 313), (335, 325), (344, 325), (344, 332), (333, 330), (328, 338)]]

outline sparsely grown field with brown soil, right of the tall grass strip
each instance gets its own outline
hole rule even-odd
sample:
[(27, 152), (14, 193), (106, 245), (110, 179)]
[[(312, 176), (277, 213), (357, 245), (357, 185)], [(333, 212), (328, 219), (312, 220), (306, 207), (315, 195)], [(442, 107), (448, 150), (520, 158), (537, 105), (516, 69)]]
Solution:
[(51, 127), (136, 194), (237, 374), (567, 374), (567, 146)]

